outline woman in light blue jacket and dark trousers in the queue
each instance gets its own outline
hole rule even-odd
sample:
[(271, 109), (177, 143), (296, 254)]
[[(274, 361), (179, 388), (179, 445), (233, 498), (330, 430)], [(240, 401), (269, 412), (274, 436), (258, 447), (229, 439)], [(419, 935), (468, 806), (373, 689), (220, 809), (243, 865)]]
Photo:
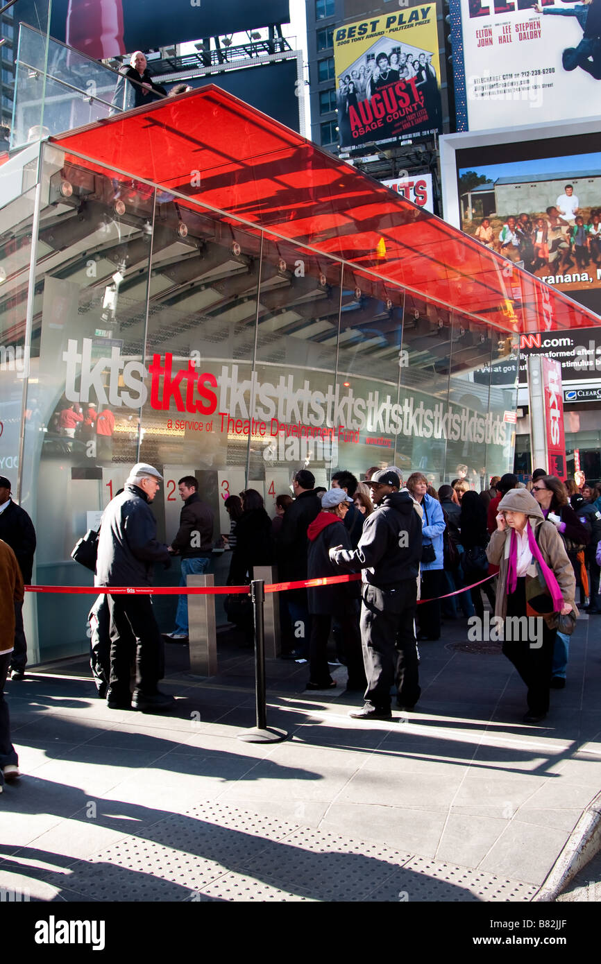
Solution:
[(420, 603), (418, 617), (420, 631), (418, 640), (440, 639), (440, 602), (443, 593), (444, 552), (443, 532), (445, 517), (440, 502), (427, 495), (428, 481), (423, 472), (412, 472), (407, 479), (407, 489), (416, 502), (422, 506), (422, 590), (421, 599), (431, 600)]

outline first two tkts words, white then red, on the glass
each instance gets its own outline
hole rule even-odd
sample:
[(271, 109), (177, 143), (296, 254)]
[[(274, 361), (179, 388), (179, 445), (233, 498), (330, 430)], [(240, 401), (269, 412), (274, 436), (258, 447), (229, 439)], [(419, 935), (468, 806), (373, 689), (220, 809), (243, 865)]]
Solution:
[[(91, 338), (83, 339), (81, 351), (77, 349), (77, 342), (69, 338), (68, 349), (63, 353), (63, 361), (67, 362), (65, 395), (69, 402), (89, 402), (93, 389), (98, 405), (141, 408), (148, 399), (144, 380), (150, 374), (151, 408), (169, 411), (173, 403), (178, 412), (200, 412), (201, 415), (211, 415), (217, 408), (217, 395), (211, 390), (217, 388), (215, 376), (197, 372), (193, 362), (174, 371), (171, 354), (165, 355), (164, 362), (160, 355), (153, 355), (147, 372), (142, 362), (125, 362), (116, 346), (110, 356), (101, 358), (93, 359), (92, 351)], [(79, 389), (75, 387), (78, 374)], [(122, 386), (128, 390), (123, 391)]]

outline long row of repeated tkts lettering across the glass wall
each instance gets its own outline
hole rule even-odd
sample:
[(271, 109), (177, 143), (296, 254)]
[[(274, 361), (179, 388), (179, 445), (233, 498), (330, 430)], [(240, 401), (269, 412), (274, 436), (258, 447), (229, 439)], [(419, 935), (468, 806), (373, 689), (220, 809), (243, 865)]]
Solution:
[[(382, 390), (370, 390), (367, 397), (363, 393), (356, 396), (353, 388), (334, 382), (325, 390), (314, 390), (307, 378), (302, 375), (299, 378), (292, 372), (278, 375), (277, 382), (275, 376), (273, 382), (260, 382), (255, 371), (250, 373), (249, 378), (244, 378), (237, 364), (222, 365), (220, 374), (216, 376), (209, 372), (205, 376), (198, 376), (195, 352), (185, 360), (185, 368), (172, 374), (174, 360), (171, 355), (166, 355), (168, 365), (167, 362), (161, 364), (159, 358), (148, 369), (142, 362), (123, 359), (118, 346), (112, 346), (110, 355), (106, 356), (98, 357), (95, 351), (97, 345), (91, 338), (83, 339), (81, 349), (77, 341), (68, 339), (63, 360), (67, 363), (65, 395), (69, 402), (86, 404), (96, 401), (100, 406), (139, 409), (147, 401), (149, 389), (145, 380), (150, 381), (151, 374), (152, 408), (169, 409), (173, 396), (179, 411), (183, 411), (184, 400), (188, 405), (188, 390), (183, 387), (187, 385), (190, 388), (188, 382), (192, 373), (218, 388), (217, 392), (212, 392), (205, 386), (207, 403), (214, 403), (219, 412), (231, 418), (249, 419), (252, 413), (252, 417), (260, 421), (304, 427), (303, 431), (299, 429), (298, 433), (292, 433), (295, 438), (290, 438), (287, 431), (272, 432), (274, 438), (266, 444), (263, 454), (265, 461), (277, 457), (281, 462), (298, 462), (309, 456), (312, 460), (334, 462), (340, 427), (346, 433), (341, 437), (342, 442), (359, 442), (358, 433), (363, 431), (378, 436), (487, 445), (505, 445), (507, 442), (503, 413), (488, 412), (484, 415), (463, 407), (446, 406), (443, 402), (432, 400), (430, 403), (425, 396), (419, 401), (412, 395), (397, 401), (396, 393), (384, 395)], [(5, 356), (10, 362), (11, 356), (6, 350)], [(406, 362), (401, 352), (398, 363), (404, 366)], [(162, 388), (161, 379), (164, 383)], [(168, 380), (169, 390), (165, 388)], [(188, 407), (187, 411), (192, 410)], [(309, 438), (313, 436), (310, 429), (323, 427), (329, 429), (325, 435), (320, 433), (318, 438), (318, 433), (315, 433), (314, 437)], [(275, 436), (278, 437), (277, 442)]]

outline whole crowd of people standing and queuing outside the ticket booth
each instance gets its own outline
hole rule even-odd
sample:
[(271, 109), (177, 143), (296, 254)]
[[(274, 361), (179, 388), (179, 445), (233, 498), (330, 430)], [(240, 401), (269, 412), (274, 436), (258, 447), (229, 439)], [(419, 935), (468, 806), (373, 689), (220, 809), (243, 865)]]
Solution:
[[(565, 685), (578, 590), (579, 604), (601, 614), (599, 486), (582, 476), (562, 482), (536, 469), (528, 486), (507, 473), (476, 492), (467, 469), (461, 475), (436, 491), (420, 471), (403, 482), (395, 467), (372, 467), (359, 481), (341, 469), (326, 490), (315, 486), (309, 469), (300, 469), (292, 479), (293, 496), (277, 496), (274, 519), (256, 489), (226, 501), (229, 584), (248, 584), (255, 567), (265, 565), (277, 565), (278, 577), (289, 582), (361, 573), (361, 581), (289, 589), (280, 605), (283, 658), (308, 663), (308, 690), (335, 688), (330, 667), (346, 666), (346, 692), (365, 699), (350, 714), (356, 719), (390, 719), (393, 690), (398, 708), (414, 710), (421, 695), (418, 644), (439, 639), (441, 619), (459, 618), (459, 609), (468, 626), (475, 620), (483, 625), (487, 601), (504, 628), (497, 637), (503, 652), (527, 685), (524, 719), (538, 722), (549, 709), (550, 689)], [(214, 520), (198, 480), (187, 475), (178, 482), (183, 506), (170, 545), (157, 540), (150, 509), (162, 481), (157, 469), (138, 463), (109, 502), (98, 534), (96, 586), (150, 587), (155, 565), (169, 566), (174, 555), (180, 557), (180, 585), (188, 575), (206, 572)], [(33, 524), (14, 503), (10, 481), (0, 477), (4, 779), (18, 776), (4, 684), (9, 675), (14, 682), (24, 676), (23, 585), (31, 582), (35, 549)], [(232, 622), (252, 641), (250, 606), (232, 613)], [(159, 629), (148, 594), (99, 594), (90, 626), (91, 665), (108, 707), (171, 710), (173, 697), (158, 688), (163, 644), (187, 639), (187, 597), (178, 598), (176, 628), (168, 633)]]

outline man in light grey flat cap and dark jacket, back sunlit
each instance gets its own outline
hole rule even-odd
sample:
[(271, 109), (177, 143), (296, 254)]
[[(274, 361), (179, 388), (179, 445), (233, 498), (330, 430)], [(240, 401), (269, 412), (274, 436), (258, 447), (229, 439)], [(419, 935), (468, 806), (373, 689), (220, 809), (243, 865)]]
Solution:
[[(121, 495), (104, 511), (98, 539), (96, 586), (150, 586), (154, 563), (170, 564), (167, 546), (156, 541), (150, 502), (162, 475), (139, 462), (131, 469)], [(150, 595), (108, 596), (111, 617), (111, 675), (106, 694), (111, 710), (170, 710), (172, 696), (159, 692), (164, 673), (163, 640)], [(136, 653), (136, 686), (129, 690), (129, 664)]]

